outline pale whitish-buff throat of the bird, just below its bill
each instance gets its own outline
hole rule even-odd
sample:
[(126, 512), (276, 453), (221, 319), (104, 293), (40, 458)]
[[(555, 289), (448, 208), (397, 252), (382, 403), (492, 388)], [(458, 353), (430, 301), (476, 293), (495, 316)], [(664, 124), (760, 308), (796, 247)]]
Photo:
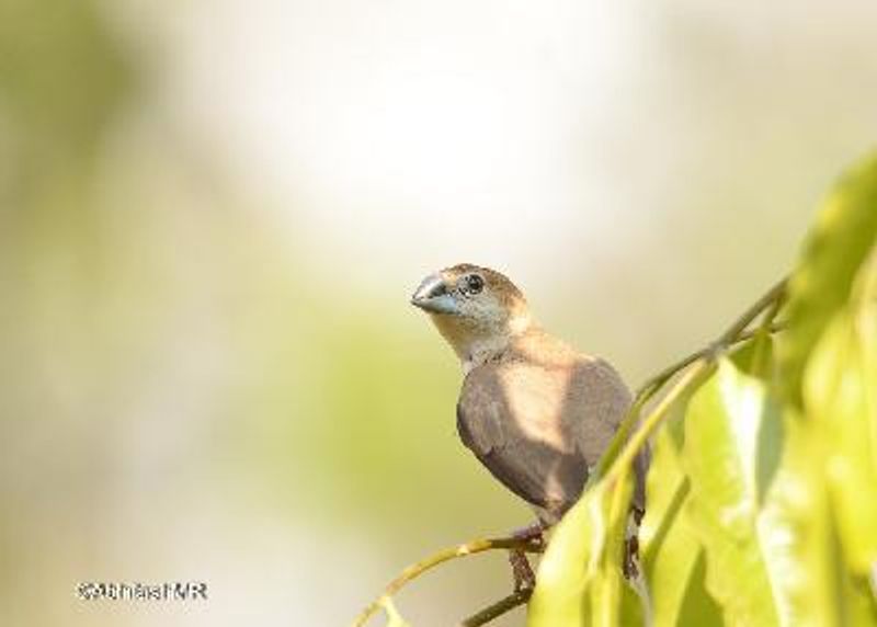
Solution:
[(515, 316), (496, 329), (470, 327), (460, 323), (459, 319), (446, 316), (432, 316), (432, 319), (438, 332), (457, 354), (464, 374), (500, 355), (532, 324), (528, 315)]

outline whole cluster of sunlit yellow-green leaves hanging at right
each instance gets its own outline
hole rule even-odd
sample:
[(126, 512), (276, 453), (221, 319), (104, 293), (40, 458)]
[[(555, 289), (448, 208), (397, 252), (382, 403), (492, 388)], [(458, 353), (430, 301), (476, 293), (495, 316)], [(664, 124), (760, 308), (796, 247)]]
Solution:
[[(872, 159), (830, 194), (749, 339), (729, 347), (744, 320), (654, 410), (636, 408), (639, 426), (548, 546), (528, 626), (877, 625), (876, 241)], [(774, 339), (777, 315), (787, 330)], [(647, 440), (630, 584), (628, 467)]]

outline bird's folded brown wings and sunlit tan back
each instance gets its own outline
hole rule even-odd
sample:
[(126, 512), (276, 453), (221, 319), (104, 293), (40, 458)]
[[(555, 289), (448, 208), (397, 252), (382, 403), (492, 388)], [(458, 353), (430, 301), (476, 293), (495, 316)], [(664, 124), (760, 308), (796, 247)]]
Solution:
[[(506, 488), (556, 513), (581, 494), (624, 418), (630, 398), (605, 362), (563, 367), (517, 361), (475, 368), (457, 404), (457, 430), (468, 448)], [(635, 502), (642, 506), (645, 468), (637, 467)]]

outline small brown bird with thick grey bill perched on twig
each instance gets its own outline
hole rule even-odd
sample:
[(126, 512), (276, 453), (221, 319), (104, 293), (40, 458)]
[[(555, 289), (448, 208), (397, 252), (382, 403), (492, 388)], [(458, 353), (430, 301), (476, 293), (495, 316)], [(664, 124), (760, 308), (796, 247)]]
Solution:
[[(456, 406), (463, 444), (511, 492), (536, 523), (531, 538), (578, 501), (588, 476), (631, 404), (631, 394), (605, 360), (572, 349), (533, 317), (504, 274), (471, 263), (432, 273), (411, 296), (456, 353), (463, 385)], [(646, 506), (647, 452), (636, 458), (630, 517)], [(636, 574), (636, 534), (628, 533), (625, 574)], [(523, 551), (510, 556), (515, 590), (535, 578)], [(628, 572), (628, 570), (630, 572)]]

